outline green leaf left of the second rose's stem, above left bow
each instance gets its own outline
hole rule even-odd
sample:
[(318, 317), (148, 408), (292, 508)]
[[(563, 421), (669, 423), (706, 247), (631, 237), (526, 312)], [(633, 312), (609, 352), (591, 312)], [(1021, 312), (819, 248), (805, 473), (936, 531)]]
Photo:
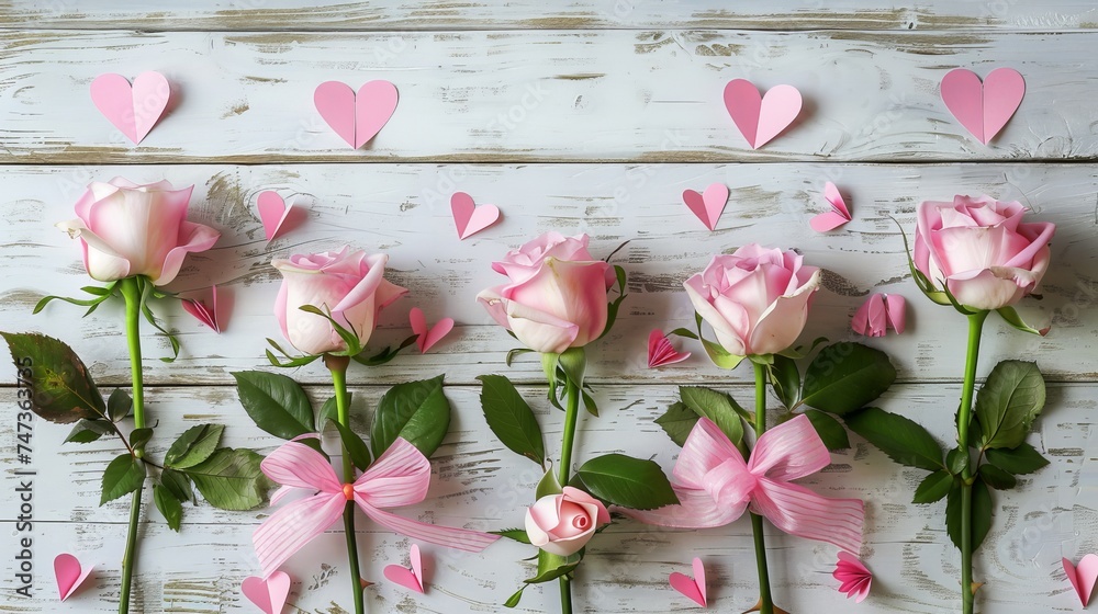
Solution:
[(244, 410), (260, 429), (283, 440), (316, 432), (309, 397), (293, 379), (261, 371), (242, 371), (233, 377)]

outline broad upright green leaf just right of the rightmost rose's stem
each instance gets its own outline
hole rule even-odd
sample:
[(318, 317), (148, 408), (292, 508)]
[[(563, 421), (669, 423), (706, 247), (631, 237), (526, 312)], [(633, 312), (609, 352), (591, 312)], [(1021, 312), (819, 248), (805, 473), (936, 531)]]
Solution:
[(979, 447), (1018, 447), (1044, 408), (1044, 378), (1037, 363), (1002, 361), (976, 393)]

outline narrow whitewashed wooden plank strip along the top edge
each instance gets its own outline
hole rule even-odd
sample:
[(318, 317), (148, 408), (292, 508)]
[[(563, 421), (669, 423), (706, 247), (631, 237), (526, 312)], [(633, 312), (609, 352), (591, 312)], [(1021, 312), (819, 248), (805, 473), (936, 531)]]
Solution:
[(1085, 0), (1018, 2), (869, 2), (780, 0), (765, 8), (693, 0), (581, 0), (546, 5), (508, 2), (329, 2), (219, 0), (153, 5), (68, 0), (0, 2), (0, 25), (21, 29), (109, 30), (542, 30), (712, 27), (743, 30), (1074, 30), (1094, 27)]

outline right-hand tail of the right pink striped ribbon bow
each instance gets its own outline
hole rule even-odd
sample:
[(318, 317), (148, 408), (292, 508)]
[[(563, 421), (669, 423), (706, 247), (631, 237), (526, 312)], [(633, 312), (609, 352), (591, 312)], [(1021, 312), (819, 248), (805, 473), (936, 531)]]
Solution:
[(865, 505), (861, 499), (830, 499), (803, 486), (761, 478), (751, 510), (789, 535), (851, 553), (862, 548)]

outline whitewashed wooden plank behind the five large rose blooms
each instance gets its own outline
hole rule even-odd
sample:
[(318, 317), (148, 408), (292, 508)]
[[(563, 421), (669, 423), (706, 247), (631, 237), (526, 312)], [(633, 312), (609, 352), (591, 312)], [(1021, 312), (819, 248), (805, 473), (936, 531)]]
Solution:
[[(653, 328), (693, 326), (693, 309), (682, 282), (701, 271), (710, 257), (747, 242), (797, 247), (807, 262), (824, 266), (825, 289), (814, 303), (803, 339), (859, 339), (849, 318), (871, 292), (908, 297), (910, 330), (903, 336), (867, 340), (888, 351), (905, 379), (960, 377), (963, 369), (964, 318), (919, 295), (908, 278), (907, 260), (895, 218), (910, 235), (915, 205), (922, 200), (952, 200), (956, 192), (990, 193), (1020, 200), (1038, 217), (1060, 225), (1053, 265), (1043, 302), (1028, 309), (1054, 318), (1046, 338), (1015, 331), (998, 318), (986, 327), (983, 364), (1005, 356), (1038, 356), (1055, 379), (1093, 380), (1094, 365), (1079, 355), (1095, 351), (1098, 266), (1095, 235), (1094, 168), (1052, 164), (547, 164), (547, 166), (373, 166), (368, 174), (347, 164), (296, 167), (113, 167), (30, 168), (3, 170), (0, 212), (0, 318), (9, 330), (42, 330), (71, 343), (103, 382), (128, 382), (125, 343), (119, 337), (121, 306), (111, 303), (79, 320), (79, 307), (55, 303), (37, 316), (31, 308), (46, 294), (74, 296), (90, 283), (78, 245), (53, 228), (72, 216), (83, 185), (91, 179), (122, 174), (138, 182), (167, 178), (176, 185), (195, 184), (191, 219), (222, 231), (215, 249), (191, 255), (169, 289), (184, 296), (217, 284), (226, 311), (226, 330), (217, 336), (186, 315), (178, 304), (155, 309), (177, 330), (183, 352), (173, 364), (155, 360), (168, 350), (148, 333), (149, 382), (173, 384), (232, 383), (228, 372), (267, 364), (265, 339), (278, 338), (271, 305), (279, 275), (272, 257), (338, 249), (345, 243), (391, 255), (391, 278), (412, 289), (382, 315), (374, 345), (406, 337), (407, 310), (422, 306), (430, 321), (453, 317), (458, 327), (425, 356), (414, 350), (390, 365), (356, 369), (352, 377), (429, 377), (446, 373), (455, 384), (474, 384), (483, 373), (506, 371), (520, 382), (542, 379), (540, 364), (519, 359), (504, 366), (516, 345), (494, 325), (474, 297), (502, 283), (489, 264), (506, 250), (547, 230), (587, 232), (595, 254), (606, 255), (630, 241), (615, 258), (630, 276), (630, 296), (613, 333), (593, 346), (590, 377), (596, 382), (746, 382), (750, 369), (721, 372), (701, 348), (680, 365), (652, 371), (646, 343)], [(808, 219), (827, 206), (824, 182), (834, 181), (848, 195), (855, 219), (844, 229), (819, 235)], [(716, 232), (707, 231), (681, 203), (684, 189), (703, 190), (724, 182), (731, 197)], [(279, 190), (299, 197), (307, 211), (296, 228), (265, 247), (254, 209), (258, 192)], [(480, 203), (495, 203), (503, 221), (466, 241), (457, 239), (449, 194), (462, 190)], [(147, 329), (147, 327), (146, 327)], [(864, 339), (863, 339), (864, 340)], [(682, 341), (677, 342), (682, 345)], [(306, 367), (300, 376), (324, 382), (325, 372)]]

